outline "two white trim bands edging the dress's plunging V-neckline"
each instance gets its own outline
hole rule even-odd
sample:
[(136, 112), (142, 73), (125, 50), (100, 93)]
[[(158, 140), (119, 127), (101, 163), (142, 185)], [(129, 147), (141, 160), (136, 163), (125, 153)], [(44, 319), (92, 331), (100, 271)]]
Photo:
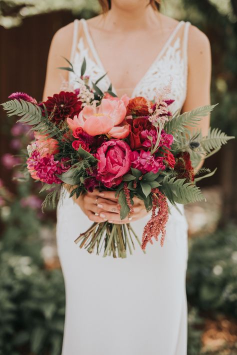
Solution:
[[(95, 48), (95, 45), (94, 45), (94, 42), (93, 42), (93, 39), (90, 35), (90, 32), (89, 32), (89, 28), (88, 28), (88, 25), (87, 25), (87, 22), (84, 18), (81, 18), (80, 19), (81, 22), (82, 22), (82, 25), (83, 25), (83, 30), (84, 30), (84, 34), (86, 36), (86, 40), (89, 44), (89, 47), (90, 47), (90, 50), (97, 62), (97, 65), (100, 66), (100, 69), (106, 73), (107, 71), (105, 70), (104, 66), (103, 66), (103, 63), (98, 55), (98, 52)], [(170, 33), (170, 35), (168, 36), (166, 42), (163, 44), (163, 46), (161, 47), (161, 49), (159, 50), (158, 54), (156, 55), (155, 59), (152, 61), (152, 63), (149, 65), (148, 69), (145, 71), (144, 75), (138, 80), (138, 82), (136, 83), (135, 87), (133, 88), (132, 90), (132, 93), (131, 93), (131, 97), (133, 97), (137, 87), (140, 85), (140, 83), (143, 81), (143, 79), (145, 78), (145, 76), (148, 74), (148, 72), (150, 71), (150, 69), (154, 66), (154, 64), (160, 59), (160, 57), (162, 56), (162, 54), (164, 53), (164, 51), (166, 50), (166, 48), (169, 46), (170, 42), (172, 41), (173, 37), (175, 36), (175, 34), (177, 33), (179, 27), (181, 26), (181, 24), (183, 23), (184, 21), (179, 21), (178, 24), (174, 27), (174, 29), (172, 30), (172, 32)], [(107, 74), (107, 78), (109, 80), (109, 82), (112, 84), (108, 74)], [(115, 94), (116, 93), (116, 90), (115, 90), (115, 87), (112, 85), (112, 90)]]

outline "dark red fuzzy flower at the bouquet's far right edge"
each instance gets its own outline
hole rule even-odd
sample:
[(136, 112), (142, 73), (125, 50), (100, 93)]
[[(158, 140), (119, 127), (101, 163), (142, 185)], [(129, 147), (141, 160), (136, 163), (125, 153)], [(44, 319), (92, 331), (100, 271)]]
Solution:
[(194, 180), (194, 169), (191, 166), (190, 154), (187, 151), (177, 153), (174, 169), (178, 172), (177, 178)]

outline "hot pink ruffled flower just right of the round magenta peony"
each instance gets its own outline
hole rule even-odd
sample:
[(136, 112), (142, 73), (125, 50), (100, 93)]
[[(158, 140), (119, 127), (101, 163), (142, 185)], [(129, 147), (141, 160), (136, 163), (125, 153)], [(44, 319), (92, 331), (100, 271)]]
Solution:
[(140, 150), (140, 152), (136, 150), (132, 151), (131, 167), (135, 167), (143, 174), (150, 171), (156, 173), (159, 171), (159, 169), (165, 169), (162, 156), (154, 157), (153, 155), (150, 155), (149, 151), (145, 150)]

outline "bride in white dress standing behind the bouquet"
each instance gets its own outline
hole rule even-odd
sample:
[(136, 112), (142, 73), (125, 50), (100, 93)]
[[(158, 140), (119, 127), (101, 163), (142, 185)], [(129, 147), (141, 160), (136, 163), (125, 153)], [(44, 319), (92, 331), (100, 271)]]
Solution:
[[(75, 19), (53, 36), (47, 61), (43, 100), (63, 88), (76, 88), (74, 74), (59, 70), (70, 59), (80, 73), (112, 83), (117, 96), (153, 99), (170, 82), (171, 110), (209, 104), (210, 46), (189, 22), (158, 11), (155, 0), (100, 0), (103, 13)], [(200, 121), (207, 134), (209, 117)], [(190, 127), (191, 129), (191, 127)], [(63, 193), (65, 195), (65, 193)], [(150, 215), (134, 199), (131, 225), (141, 237)], [(60, 198), (57, 248), (65, 281), (66, 314), (63, 355), (184, 355), (187, 343), (185, 272), (187, 222), (170, 205), (163, 247), (136, 247), (127, 258), (101, 257), (80, 249), (74, 239), (92, 221), (120, 220), (113, 192)]]

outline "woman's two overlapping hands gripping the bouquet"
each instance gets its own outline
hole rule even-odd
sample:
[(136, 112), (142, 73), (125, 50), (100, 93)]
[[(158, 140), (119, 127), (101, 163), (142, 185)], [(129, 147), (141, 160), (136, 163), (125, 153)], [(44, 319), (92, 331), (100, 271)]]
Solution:
[(113, 191), (99, 192), (94, 190), (84, 193), (78, 198), (72, 198), (93, 222), (100, 223), (107, 220), (109, 223), (124, 224), (142, 218), (147, 214), (143, 201), (133, 197), (134, 204), (132, 207), (134, 211), (126, 218), (120, 219), (118, 198), (115, 197)]

